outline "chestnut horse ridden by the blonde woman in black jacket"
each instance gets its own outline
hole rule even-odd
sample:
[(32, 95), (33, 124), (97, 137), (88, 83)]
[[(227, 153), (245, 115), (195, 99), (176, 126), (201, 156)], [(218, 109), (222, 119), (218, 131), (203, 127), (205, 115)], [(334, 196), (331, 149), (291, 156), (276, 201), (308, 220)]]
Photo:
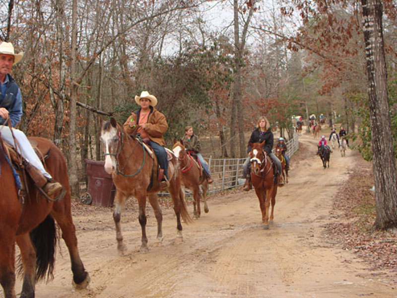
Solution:
[[(259, 206), (262, 212), (262, 223), (264, 228), (269, 228), (273, 222), (274, 204), (276, 203), (277, 180), (274, 179), (273, 166), (270, 157), (263, 150), (265, 141), (262, 143), (249, 143), (252, 148), (251, 157), (251, 181), (259, 199)], [(269, 207), (271, 202), (271, 214), (269, 217)]]

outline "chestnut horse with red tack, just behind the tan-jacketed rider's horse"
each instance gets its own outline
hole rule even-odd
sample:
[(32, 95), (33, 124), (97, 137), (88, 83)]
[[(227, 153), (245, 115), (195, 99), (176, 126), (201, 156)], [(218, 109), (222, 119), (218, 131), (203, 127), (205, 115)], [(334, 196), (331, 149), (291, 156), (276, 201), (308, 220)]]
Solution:
[[(208, 213), (207, 206), (207, 191), (208, 181), (206, 175), (200, 170), (199, 163), (194, 160), (192, 155), (186, 152), (183, 142), (174, 140), (174, 147), (172, 148), (174, 154), (178, 156), (179, 171), (181, 175), (181, 183), (184, 187), (193, 192), (193, 218), (198, 219), (201, 214), (200, 209), (200, 185), (202, 188), (202, 198), (204, 200), (204, 212)], [(183, 190), (185, 193), (185, 190)]]

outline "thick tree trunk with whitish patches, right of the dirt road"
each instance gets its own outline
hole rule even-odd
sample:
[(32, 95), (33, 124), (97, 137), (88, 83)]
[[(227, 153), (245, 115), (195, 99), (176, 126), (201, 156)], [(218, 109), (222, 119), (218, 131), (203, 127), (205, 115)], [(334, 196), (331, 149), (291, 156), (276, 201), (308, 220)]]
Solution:
[(396, 160), (387, 91), (382, 28), (382, 2), (361, 0), (367, 61), (372, 154), (376, 198), (376, 229), (397, 228)]

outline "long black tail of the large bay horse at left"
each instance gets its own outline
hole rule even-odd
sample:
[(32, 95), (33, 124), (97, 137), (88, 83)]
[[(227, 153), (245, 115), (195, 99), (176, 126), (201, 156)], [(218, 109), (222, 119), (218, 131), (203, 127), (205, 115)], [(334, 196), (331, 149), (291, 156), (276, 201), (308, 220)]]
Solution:
[(55, 221), (48, 215), (46, 219), (30, 232), (36, 248), (36, 280), (54, 278), (55, 251), (57, 234)]

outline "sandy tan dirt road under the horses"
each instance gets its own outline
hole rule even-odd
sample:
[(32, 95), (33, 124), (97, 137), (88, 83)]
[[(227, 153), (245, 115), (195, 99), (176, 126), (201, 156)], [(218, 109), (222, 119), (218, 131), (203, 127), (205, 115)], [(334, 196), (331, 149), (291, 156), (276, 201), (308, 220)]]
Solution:
[[(135, 201), (122, 214), (128, 252), (119, 256), (110, 208), (74, 208), (79, 250), (91, 276), (88, 290), (71, 287), (69, 258), (63, 241), (55, 279), (36, 286), (36, 297), (396, 297), (387, 280), (371, 275), (365, 264), (335, 247), (324, 233), (332, 197), (359, 158), (351, 150), (331, 153), (324, 169), (312, 135), (300, 138), (303, 159), (291, 161), (289, 183), (278, 190), (274, 224), (261, 225), (255, 192), (236, 190), (210, 198), (209, 213), (184, 224), (184, 242), (176, 241), (172, 209), (163, 210), (163, 246), (154, 246), (156, 221), (148, 208), (149, 252), (140, 253)], [(78, 206), (77, 206), (78, 207)], [(190, 205), (189, 210), (193, 212)], [(62, 255), (59, 252), (62, 252)], [(21, 281), (18, 280), (17, 292)]]

